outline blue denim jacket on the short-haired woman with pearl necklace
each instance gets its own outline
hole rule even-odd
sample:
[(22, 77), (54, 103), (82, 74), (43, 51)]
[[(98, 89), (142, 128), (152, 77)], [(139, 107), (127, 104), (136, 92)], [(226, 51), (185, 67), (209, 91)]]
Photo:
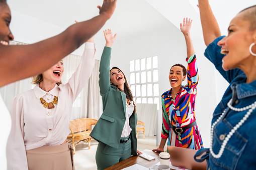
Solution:
[[(248, 110), (233, 111), (227, 107), (232, 98), (232, 106), (243, 108), (256, 101), (256, 80), (246, 84), (246, 75), (239, 69), (224, 71), (222, 58), (217, 45), (223, 37), (214, 40), (205, 50), (205, 56), (214, 64), (220, 74), (229, 82), (220, 103), (216, 107), (212, 124), (225, 109), (222, 119), (214, 126), (212, 149), (218, 154), (221, 144), (231, 129), (243, 118)], [(248, 49), (249, 50), (249, 49)], [(207, 160), (207, 169), (256, 169), (256, 109), (228, 140), (220, 158), (214, 158), (208, 148), (200, 149), (195, 155), (197, 161)], [(196, 157), (206, 153), (201, 159)]]

